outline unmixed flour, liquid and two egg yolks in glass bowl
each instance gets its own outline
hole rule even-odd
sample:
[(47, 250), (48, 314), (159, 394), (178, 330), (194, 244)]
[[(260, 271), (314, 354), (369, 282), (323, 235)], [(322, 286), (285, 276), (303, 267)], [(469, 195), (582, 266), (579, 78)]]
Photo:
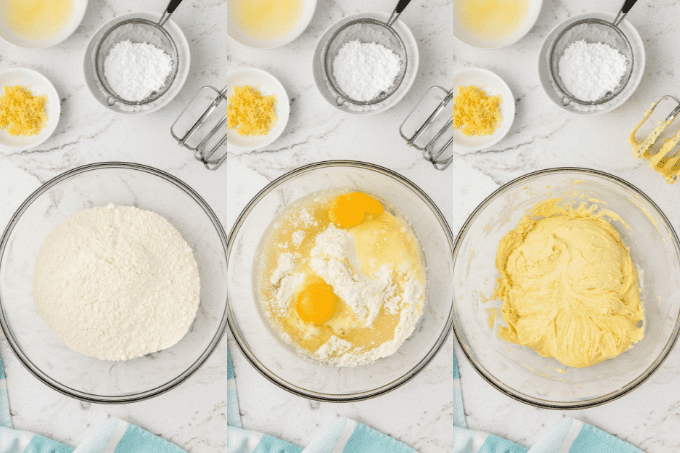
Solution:
[(374, 362), (402, 347), (423, 314), (427, 268), (418, 238), (369, 194), (303, 197), (272, 222), (260, 250), (261, 314), (306, 359), (339, 367)]

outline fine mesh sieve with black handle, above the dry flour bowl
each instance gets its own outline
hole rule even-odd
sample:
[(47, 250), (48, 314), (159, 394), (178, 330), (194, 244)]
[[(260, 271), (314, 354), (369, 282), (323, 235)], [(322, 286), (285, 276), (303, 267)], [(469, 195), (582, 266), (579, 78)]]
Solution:
[[(94, 66), (97, 80), (109, 96), (108, 102), (110, 105), (113, 105), (116, 102), (126, 105), (146, 105), (156, 101), (170, 89), (177, 76), (179, 53), (175, 41), (165, 28), (163, 28), (163, 25), (165, 25), (180, 3), (182, 3), (182, 0), (171, 0), (158, 23), (142, 18), (132, 18), (115, 24), (110, 30), (104, 33), (97, 44)], [(111, 49), (122, 41), (151, 44), (165, 52), (172, 61), (170, 74), (166, 77), (163, 86), (141, 101), (129, 101), (121, 98), (106, 79), (104, 72), (106, 57)]]

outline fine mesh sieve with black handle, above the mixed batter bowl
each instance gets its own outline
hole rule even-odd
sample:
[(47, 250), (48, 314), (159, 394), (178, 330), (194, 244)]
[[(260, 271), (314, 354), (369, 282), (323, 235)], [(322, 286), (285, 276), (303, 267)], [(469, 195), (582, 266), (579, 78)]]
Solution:
[[(626, 87), (633, 73), (635, 59), (633, 57), (633, 48), (630, 44), (630, 41), (619, 29), (618, 25), (621, 23), (626, 14), (628, 14), (628, 11), (630, 11), (636, 1), (637, 0), (626, 0), (613, 23), (596, 18), (582, 19), (569, 24), (564, 30), (562, 30), (562, 32), (560, 32), (559, 35), (557, 35), (557, 38), (553, 42), (550, 49), (550, 71), (548, 73), (553, 84), (563, 96), (563, 103), (565, 105), (568, 105), (572, 102), (580, 105), (604, 104), (605, 102), (611, 101), (616, 96), (618, 96)], [(621, 80), (619, 81), (619, 84), (616, 86), (616, 88), (605, 93), (604, 96), (595, 101), (584, 101), (582, 99), (578, 99), (567, 89), (564, 81), (560, 77), (560, 59), (564, 55), (564, 51), (577, 41), (606, 44), (621, 53), (626, 58), (626, 61), (628, 61), (626, 72), (621, 77)]]

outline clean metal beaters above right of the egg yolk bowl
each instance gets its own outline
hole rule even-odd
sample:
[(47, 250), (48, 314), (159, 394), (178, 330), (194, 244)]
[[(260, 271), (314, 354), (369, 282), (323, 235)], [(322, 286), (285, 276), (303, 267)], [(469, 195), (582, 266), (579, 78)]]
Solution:
[[(437, 100), (439, 104), (432, 109)], [(425, 122), (418, 121), (428, 113)], [(448, 168), (453, 162), (453, 89), (430, 87), (401, 124), (399, 133), (409, 146), (422, 152), (423, 158), (434, 168)]]

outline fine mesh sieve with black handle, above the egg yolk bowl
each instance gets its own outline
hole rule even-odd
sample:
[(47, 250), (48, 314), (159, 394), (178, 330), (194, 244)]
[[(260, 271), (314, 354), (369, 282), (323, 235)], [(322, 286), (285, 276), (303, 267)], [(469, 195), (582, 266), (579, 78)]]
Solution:
[[(347, 22), (342, 27), (333, 33), (326, 46), (324, 47), (322, 58), (324, 60), (324, 78), (329, 83), (331, 88), (335, 90), (338, 95), (337, 103), (342, 105), (345, 102), (355, 105), (373, 105), (384, 101), (394, 94), (401, 85), (406, 75), (408, 68), (408, 59), (406, 54), (406, 46), (399, 34), (394, 31), (392, 24), (399, 18), (399, 15), (406, 9), (406, 6), (411, 0), (399, 0), (397, 7), (392, 12), (390, 19), (387, 22), (371, 19), (368, 17), (356, 19)], [(352, 41), (359, 41), (361, 43), (375, 43), (380, 44), (387, 49), (394, 52), (401, 60), (401, 68), (399, 74), (394, 79), (394, 82), (387, 90), (378, 94), (377, 97), (369, 101), (357, 101), (352, 99), (339, 86), (335, 76), (333, 75), (333, 62), (338, 56), (340, 49), (347, 43)]]

